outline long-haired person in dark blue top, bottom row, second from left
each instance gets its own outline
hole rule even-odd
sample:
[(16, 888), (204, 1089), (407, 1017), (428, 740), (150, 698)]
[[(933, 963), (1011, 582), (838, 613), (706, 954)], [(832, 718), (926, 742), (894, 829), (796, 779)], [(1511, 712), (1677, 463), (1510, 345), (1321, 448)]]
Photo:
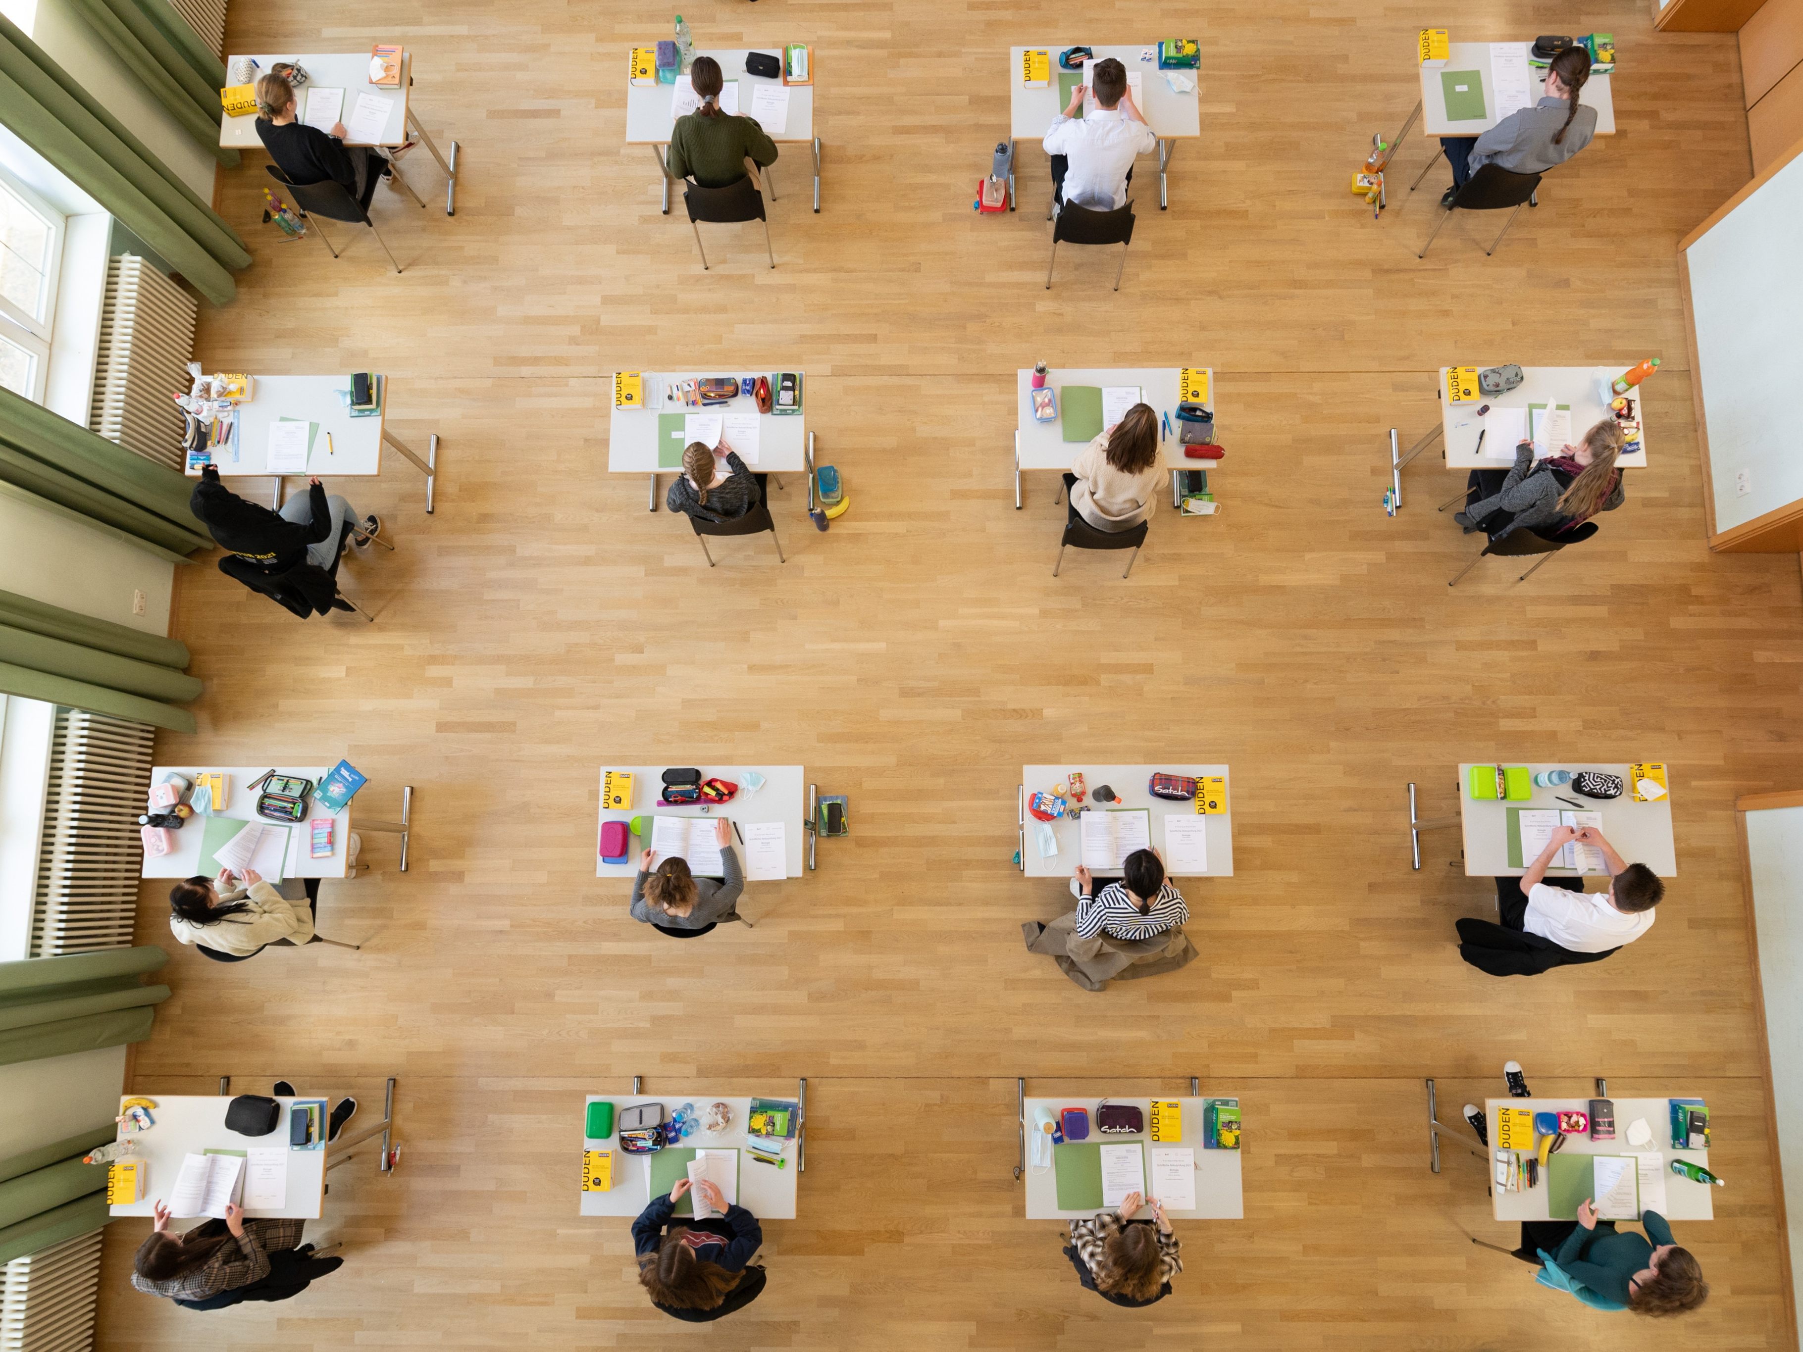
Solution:
[(689, 1186), (689, 1179), (676, 1179), (669, 1197), (653, 1197), (638, 1213), (633, 1251), (638, 1283), (651, 1293), (651, 1303), (678, 1320), (705, 1323), (745, 1309), (764, 1289), (764, 1269), (750, 1265), (764, 1231), (743, 1206), (727, 1206), (709, 1179), (694, 1188), (723, 1215), (673, 1220)]

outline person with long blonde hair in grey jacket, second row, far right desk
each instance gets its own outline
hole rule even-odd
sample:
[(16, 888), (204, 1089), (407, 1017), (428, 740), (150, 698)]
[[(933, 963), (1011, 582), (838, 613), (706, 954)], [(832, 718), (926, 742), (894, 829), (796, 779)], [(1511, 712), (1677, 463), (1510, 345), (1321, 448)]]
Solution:
[[(1489, 532), (1493, 541), (1513, 530), (1533, 530), (1538, 535), (1563, 535), (1588, 521), (1597, 512), (1614, 512), (1626, 501), (1621, 470), (1621, 424), (1603, 418), (1583, 434), (1578, 445), (1567, 445), (1556, 456), (1534, 463), (1534, 443), (1515, 447), (1515, 469), (1507, 474), (1495, 469), (1475, 469), (1466, 483), (1466, 510), (1453, 521), (1473, 530)], [(1469, 501), (1471, 494), (1482, 494)]]

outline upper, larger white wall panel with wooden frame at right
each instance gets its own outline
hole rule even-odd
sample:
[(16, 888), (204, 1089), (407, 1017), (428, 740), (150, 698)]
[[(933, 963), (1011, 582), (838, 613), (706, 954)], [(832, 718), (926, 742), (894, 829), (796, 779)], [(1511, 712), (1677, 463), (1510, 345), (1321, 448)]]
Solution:
[[(1799, 220), (1803, 157), (1686, 251), (1718, 532), (1803, 499), (1796, 415), (1781, 393), (1803, 384)], [(1751, 474), (1747, 496), (1736, 485), (1742, 470)]]

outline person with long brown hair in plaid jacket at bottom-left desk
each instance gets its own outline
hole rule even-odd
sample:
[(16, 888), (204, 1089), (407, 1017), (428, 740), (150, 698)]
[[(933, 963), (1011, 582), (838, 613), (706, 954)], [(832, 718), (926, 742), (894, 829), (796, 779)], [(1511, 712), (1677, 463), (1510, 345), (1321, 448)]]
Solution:
[(245, 1220), (243, 1211), (227, 1202), (224, 1220), (171, 1235), (169, 1208), (159, 1201), (155, 1215), (155, 1229), (132, 1260), (132, 1285), (191, 1311), (288, 1300), (307, 1291), (314, 1278), (344, 1265), (343, 1258), (321, 1256), (312, 1244), (301, 1244), (305, 1220)]

